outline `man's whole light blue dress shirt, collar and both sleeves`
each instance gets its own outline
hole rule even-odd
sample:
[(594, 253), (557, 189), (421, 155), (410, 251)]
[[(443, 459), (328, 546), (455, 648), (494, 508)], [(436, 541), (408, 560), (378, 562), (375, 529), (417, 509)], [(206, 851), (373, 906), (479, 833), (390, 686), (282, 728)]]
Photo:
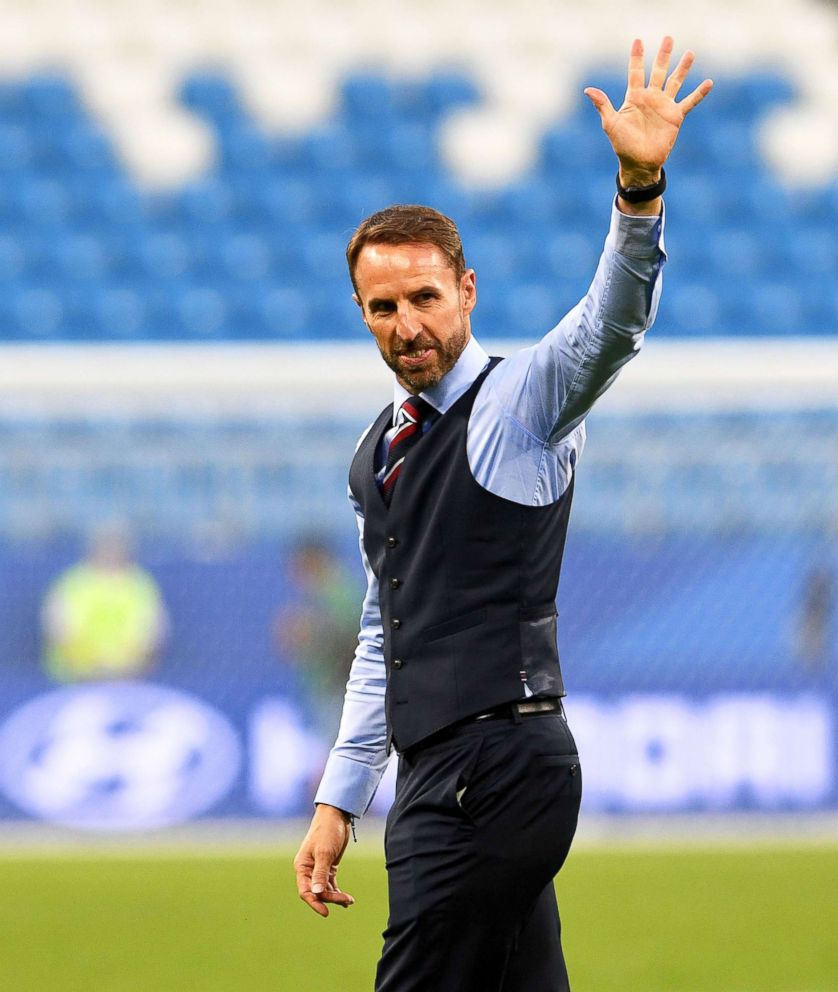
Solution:
[[(565, 491), (585, 444), (585, 415), (640, 349), (655, 319), (666, 260), (663, 228), (663, 213), (630, 217), (615, 203), (585, 297), (538, 344), (489, 373), (468, 424), (469, 465), (481, 486), (527, 506), (555, 502)], [(421, 394), (423, 399), (444, 414), (488, 361), (471, 338), (456, 365)], [(408, 396), (396, 382), (394, 418)], [(364, 550), (361, 508), (351, 494), (350, 501), (361, 534), (367, 592), (340, 729), (315, 802), (361, 816), (387, 765), (387, 680), (378, 580)]]

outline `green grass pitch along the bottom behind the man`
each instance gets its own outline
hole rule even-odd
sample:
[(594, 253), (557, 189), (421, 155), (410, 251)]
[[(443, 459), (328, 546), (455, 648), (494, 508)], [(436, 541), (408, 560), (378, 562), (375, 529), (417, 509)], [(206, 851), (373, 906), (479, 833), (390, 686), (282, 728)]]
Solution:
[[(316, 917), (288, 849), (0, 857), (2, 992), (371, 992), (385, 878)], [(580, 848), (558, 882), (574, 992), (836, 992), (838, 844)]]

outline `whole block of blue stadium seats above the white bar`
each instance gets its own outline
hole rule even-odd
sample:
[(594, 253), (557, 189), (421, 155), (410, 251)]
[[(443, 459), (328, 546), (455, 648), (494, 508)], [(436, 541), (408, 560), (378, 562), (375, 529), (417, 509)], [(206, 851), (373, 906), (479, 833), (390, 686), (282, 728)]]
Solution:
[[(598, 78), (616, 99), (620, 78)], [(790, 97), (775, 75), (730, 78), (690, 118), (670, 166), (656, 333), (838, 329), (838, 183), (785, 189), (757, 148), (760, 115)], [(581, 103), (542, 136), (526, 175), (475, 191), (438, 149), (443, 118), (480, 99), (462, 74), (350, 76), (333, 119), (296, 137), (263, 132), (217, 73), (187, 79), (182, 99), (214, 129), (219, 159), (200, 181), (151, 194), (67, 79), (0, 86), (0, 340), (351, 339), (343, 248), (393, 201), (430, 202), (460, 223), (482, 336), (537, 336), (585, 291), (613, 162)], [(567, 161), (573, 187), (556, 181)]]

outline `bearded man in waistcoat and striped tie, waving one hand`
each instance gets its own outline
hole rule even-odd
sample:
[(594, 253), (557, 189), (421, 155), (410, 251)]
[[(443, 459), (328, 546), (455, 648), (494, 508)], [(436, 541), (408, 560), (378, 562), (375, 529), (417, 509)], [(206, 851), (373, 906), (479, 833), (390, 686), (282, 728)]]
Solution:
[[(569, 988), (553, 877), (581, 775), (560, 702), (555, 595), (584, 417), (654, 319), (662, 167), (712, 87), (676, 103), (693, 55), (667, 78), (672, 47), (664, 38), (646, 84), (633, 43), (619, 111), (585, 90), (618, 158), (618, 196), (587, 296), (534, 347), (498, 362), (472, 338), (475, 273), (436, 211), (389, 208), (347, 249), (395, 402), (350, 470), (369, 585), (295, 870), (321, 916), (352, 904), (338, 862), (392, 745), (377, 992)], [(568, 162), (557, 182), (575, 181)]]

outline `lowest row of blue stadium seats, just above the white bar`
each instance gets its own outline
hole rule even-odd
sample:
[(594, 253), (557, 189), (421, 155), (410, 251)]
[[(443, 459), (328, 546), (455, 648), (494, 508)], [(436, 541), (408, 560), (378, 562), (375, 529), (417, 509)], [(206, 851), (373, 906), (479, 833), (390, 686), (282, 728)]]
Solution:
[[(735, 277), (725, 283), (680, 275), (669, 280), (660, 327), (682, 337), (759, 334), (828, 335), (838, 315), (838, 288), (807, 292), (799, 283), (760, 279), (742, 291)], [(329, 290), (323, 281), (320, 290)], [(581, 292), (575, 279), (554, 277), (550, 288), (518, 283), (509, 294), (481, 292), (473, 326), (481, 337), (499, 329), (507, 336), (533, 338), (551, 327)], [(62, 294), (54, 285), (16, 286), (0, 300), (0, 323), (16, 340), (361, 340), (358, 311), (341, 285), (322, 297), (293, 284), (255, 289), (217, 281), (211, 285), (176, 281), (171, 288), (142, 283), (93, 285)], [(655, 333), (659, 333), (656, 327)]]

